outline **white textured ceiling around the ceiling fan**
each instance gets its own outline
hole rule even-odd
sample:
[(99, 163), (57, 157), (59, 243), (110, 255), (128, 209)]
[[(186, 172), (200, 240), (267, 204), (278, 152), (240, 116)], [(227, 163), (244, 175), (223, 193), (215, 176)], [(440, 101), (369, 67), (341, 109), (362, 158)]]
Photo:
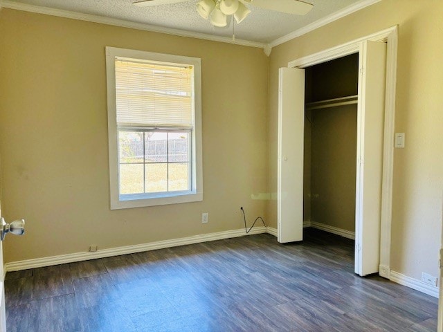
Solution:
[[(241, 24), (235, 24), (235, 37), (253, 42), (269, 43), (338, 10), (361, 2), (361, 0), (305, 1), (314, 4), (314, 9), (305, 16), (262, 10), (248, 5), (251, 14)], [(20, 0), (14, 2), (71, 10), (209, 35), (230, 37), (233, 32), (232, 22), (227, 28), (214, 28), (209, 21), (202, 19), (195, 10), (197, 0), (144, 8), (134, 6), (132, 0)]]

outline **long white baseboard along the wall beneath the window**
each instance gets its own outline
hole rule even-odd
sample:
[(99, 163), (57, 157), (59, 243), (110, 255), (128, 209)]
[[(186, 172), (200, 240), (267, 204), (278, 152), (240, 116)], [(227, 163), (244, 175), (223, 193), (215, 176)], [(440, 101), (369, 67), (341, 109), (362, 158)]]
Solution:
[[(265, 233), (266, 227), (255, 227), (247, 235)], [(135, 246), (123, 246), (118, 248), (102, 249), (96, 252), (75, 252), (73, 254), (58, 255), (51, 257), (43, 257), (36, 259), (25, 259), (23, 261), (11, 261), (5, 264), (5, 271), (19, 271), (28, 268), (41, 268), (44, 266), (52, 266), (58, 264), (72, 263), (74, 261), (87, 261), (89, 259), (98, 259), (104, 257), (133, 254), (134, 252), (143, 252), (157, 250), (163, 248), (171, 248), (177, 246), (185, 246), (187, 244), (215, 241), (221, 239), (230, 239), (232, 237), (244, 237), (246, 232), (244, 229), (227, 230), (225, 232), (215, 232), (209, 234), (195, 235), (192, 237), (182, 237), (180, 239), (172, 239), (165, 241), (156, 241), (151, 243), (142, 243)]]

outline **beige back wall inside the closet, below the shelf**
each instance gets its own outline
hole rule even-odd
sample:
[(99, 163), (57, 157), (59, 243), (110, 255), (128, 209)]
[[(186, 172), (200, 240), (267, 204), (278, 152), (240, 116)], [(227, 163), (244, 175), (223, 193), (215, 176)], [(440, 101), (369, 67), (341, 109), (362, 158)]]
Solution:
[(355, 230), (356, 105), (312, 111), (311, 221)]

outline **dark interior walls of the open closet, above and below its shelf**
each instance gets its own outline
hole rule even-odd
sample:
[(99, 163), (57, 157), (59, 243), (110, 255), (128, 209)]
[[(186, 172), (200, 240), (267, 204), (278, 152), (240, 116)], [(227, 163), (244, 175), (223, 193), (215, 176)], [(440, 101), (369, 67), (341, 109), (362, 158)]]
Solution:
[(309, 103), (358, 93), (358, 53), (306, 68), (305, 221), (355, 231), (357, 104)]

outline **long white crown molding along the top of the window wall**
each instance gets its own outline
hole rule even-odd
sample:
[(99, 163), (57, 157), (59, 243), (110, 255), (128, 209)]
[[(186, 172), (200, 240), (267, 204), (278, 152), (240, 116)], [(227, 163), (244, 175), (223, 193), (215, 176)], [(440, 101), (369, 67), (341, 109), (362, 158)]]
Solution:
[(120, 26), (123, 28), (150, 31), (152, 33), (165, 33), (167, 35), (204, 39), (204, 40), (210, 40), (212, 42), (234, 44), (239, 46), (250, 46), (256, 48), (265, 48), (267, 46), (264, 43), (251, 42), (244, 39), (235, 39), (235, 41), (233, 41), (232, 37), (221, 37), (221, 36), (208, 35), (206, 33), (194, 33), (192, 31), (164, 28), (161, 26), (152, 26), (150, 24), (126, 21), (123, 19), (112, 19), (111, 17), (84, 14), (82, 12), (73, 12), (71, 10), (62, 10), (62, 9), (43, 7), (43, 6), (29, 5), (27, 3), (21, 3), (17, 1), (0, 0), (0, 8), (1, 7), (15, 9), (15, 10), (22, 10), (25, 12), (35, 12), (37, 14), (64, 17), (66, 19), (78, 19), (80, 21), (88, 21), (98, 24), (107, 24), (110, 26)]

